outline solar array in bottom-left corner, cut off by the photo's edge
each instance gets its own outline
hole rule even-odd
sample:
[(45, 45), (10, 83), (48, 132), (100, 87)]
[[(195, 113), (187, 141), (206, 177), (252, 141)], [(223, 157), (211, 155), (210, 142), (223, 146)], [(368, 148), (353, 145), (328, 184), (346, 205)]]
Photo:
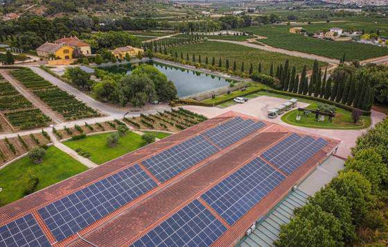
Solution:
[(0, 246), (51, 246), (32, 214), (0, 227)]

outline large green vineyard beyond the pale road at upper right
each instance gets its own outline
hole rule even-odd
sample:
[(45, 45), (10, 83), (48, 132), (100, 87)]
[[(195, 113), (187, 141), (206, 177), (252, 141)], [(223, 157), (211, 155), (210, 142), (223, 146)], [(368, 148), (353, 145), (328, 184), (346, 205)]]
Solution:
[[(341, 26), (341, 24), (311, 24), (303, 26), (306, 31), (319, 31), (324, 27)], [(252, 32), (256, 35), (263, 35), (266, 39), (261, 42), (270, 46), (312, 53), (328, 58), (340, 59), (346, 53), (346, 60), (366, 60), (379, 56), (388, 55), (388, 48), (374, 46), (371, 44), (360, 44), (356, 42), (335, 42), (330, 40), (318, 40), (313, 37), (304, 37), (300, 34), (290, 33), (290, 26), (265, 25), (243, 28), (241, 31)], [(360, 52), (362, 51), (362, 52)]]

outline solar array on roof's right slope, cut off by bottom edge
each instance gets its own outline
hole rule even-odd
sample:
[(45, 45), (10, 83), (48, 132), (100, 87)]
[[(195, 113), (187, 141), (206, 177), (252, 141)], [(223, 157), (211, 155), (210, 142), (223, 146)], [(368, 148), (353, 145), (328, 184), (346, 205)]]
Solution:
[(210, 246), (227, 230), (195, 200), (134, 242), (133, 246)]

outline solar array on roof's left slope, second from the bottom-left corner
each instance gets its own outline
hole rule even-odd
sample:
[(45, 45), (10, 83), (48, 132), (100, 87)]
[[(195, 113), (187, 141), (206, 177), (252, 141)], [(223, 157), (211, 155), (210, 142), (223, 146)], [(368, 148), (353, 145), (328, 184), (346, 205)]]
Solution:
[(61, 241), (156, 187), (138, 164), (39, 209)]

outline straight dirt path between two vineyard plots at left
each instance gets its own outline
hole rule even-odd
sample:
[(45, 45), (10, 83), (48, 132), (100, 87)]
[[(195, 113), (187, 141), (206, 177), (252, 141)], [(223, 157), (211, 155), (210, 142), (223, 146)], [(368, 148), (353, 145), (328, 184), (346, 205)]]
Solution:
[(8, 71), (1, 71), (0, 73), (3, 75), (4, 78), (6, 78), (6, 80), (8, 80), (8, 82), (13, 87), (15, 87), (15, 89), (21, 95), (23, 95), (26, 99), (28, 99), (28, 101), (33, 103), (35, 108), (39, 108), (43, 112), (43, 114), (45, 114), (47, 117), (50, 117), (51, 119), (53, 119), (54, 123), (62, 123), (64, 121), (63, 117), (60, 114), (51, 110), (51, 108), (48, 105), (46, 105), (46, 103), (41, 101), (37, 96), (35, 96), (35, 94), (30, 92), (30, 90), (28, 90), (26, 87), (24, 87), (24, 85), (19, 83), (18, 80), (16, 80), (12, 76), (10, 76)]

